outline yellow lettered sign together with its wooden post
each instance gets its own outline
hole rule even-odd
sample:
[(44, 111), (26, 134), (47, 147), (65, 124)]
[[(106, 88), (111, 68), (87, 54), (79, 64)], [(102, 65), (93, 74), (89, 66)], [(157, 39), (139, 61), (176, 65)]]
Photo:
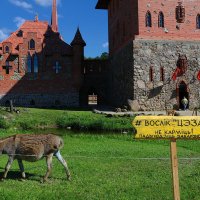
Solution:
[(200, 139), (199, 116), (137, 116), (133, 121), (136, 139), (171, 140), (171, 165), (174, 200), (180, 200), (176, 140)]

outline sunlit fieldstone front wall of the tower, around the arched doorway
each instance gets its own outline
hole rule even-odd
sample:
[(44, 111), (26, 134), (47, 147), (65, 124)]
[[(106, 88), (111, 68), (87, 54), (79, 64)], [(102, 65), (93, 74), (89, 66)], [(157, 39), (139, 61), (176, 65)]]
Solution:
[[(172, 80), (178, 56), (186, 55), (188, 70)], [(200, 102), (200, 88), (197, 73), (200, 70), (200, 42), (188, 41), (133, 41), (134, 55), (134, 100), (138, 100), (141, 110), (162, 110), (177, 107), (177, 88), (181, 81), (188, 87), (190, 109)], [(153, 81), (150, 81), (150, 67)], [(164, 81), (160, 79), (160, 68), (164, 68)], [(132, 88), (130, 88), (132, 90)]]

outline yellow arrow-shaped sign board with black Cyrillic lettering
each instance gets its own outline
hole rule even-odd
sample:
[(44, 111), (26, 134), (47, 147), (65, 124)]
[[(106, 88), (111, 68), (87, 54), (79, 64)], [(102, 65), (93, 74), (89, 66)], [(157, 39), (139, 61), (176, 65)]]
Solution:
[(138, 139), (200, 139), (198, 116), (137, 116), (133, 126)]

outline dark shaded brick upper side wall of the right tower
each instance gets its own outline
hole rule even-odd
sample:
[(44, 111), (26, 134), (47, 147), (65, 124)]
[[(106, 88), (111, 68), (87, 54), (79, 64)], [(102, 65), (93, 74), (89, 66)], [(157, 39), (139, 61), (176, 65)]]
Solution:
[(111, 0), (108, 6), (109, 52), (126, 45), (138, 34), (138, 0)]

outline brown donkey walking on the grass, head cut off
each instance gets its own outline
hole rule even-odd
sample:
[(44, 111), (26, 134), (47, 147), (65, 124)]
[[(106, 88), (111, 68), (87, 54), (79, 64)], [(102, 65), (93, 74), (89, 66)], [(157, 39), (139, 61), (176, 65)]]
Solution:
[(9, 157), (2, 180), (7, 177), (7, 173), (15, 159), (18, 161), (22, 178), (26, 178), (22, 160), (35, 162), (46, 157), (47, 172), (43, 178), (43, 181), (46, 181), (52, 169), (53, 156), (64, 166), (67, 179), (70, 180), (67, 162), (60, 154), (63, 145), (63, 140), (53, 134), (20, 134), (0, 139), (0, 155), (7, 154)]

